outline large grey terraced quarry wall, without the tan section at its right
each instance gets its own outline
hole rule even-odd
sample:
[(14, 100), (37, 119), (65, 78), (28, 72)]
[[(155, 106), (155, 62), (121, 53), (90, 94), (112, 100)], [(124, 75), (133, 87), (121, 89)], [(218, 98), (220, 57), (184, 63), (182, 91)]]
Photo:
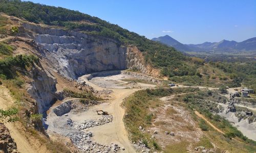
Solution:
[(126, 48), (115, 40), (37, 25), (23, 26), (34, 33), (31, 36), (41, 55), (65, 77), (76, 79), (87, 73), (127, 68)]

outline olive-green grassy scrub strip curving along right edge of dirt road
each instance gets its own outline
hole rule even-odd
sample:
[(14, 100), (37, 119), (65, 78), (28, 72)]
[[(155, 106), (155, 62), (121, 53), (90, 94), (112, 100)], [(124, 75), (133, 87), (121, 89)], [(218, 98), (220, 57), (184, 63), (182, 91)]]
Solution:
[[(127, 97), (123, 104), (126, 107), (126, 115), (124, 116), (124, 123), (127, 130), (131, 134), (130, 139), (132, 142), (137, 142), (139, 140), (148, 140), (147, 145), (151, 148), (159, 148), (157, 143), (150, 139), (148, 134), (143, 134), (139, 130), (139, 126), (143, 128), (151, 125), (151, 121), (154, 118), (154, 114), (149, 111), (150, 107), (156, 107), (159, 102), (158, 98), (164, 96), (170, 96), (178, 93), (188, 93), (199, 91), (198, 88), (165, 88), (165, 89), (146, 89), (135, 92), (133, 95)], [(158, 104), (158, 105), (159, 105)]]

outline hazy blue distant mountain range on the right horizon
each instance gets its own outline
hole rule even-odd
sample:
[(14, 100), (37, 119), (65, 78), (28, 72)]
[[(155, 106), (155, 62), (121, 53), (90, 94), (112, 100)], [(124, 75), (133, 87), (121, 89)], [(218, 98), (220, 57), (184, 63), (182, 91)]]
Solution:
[(201, 44), (183, 44), (174, 38), (165, 35), (158, 38), (153, 38), (154, 41), (159, 41), (167, 46), (176, 48), (182, 52), (233, 52), (233, 51), (256, 51), (256, 37), (244, 40), (242, 42), (222, 40), (220, 42), (204, 42)]

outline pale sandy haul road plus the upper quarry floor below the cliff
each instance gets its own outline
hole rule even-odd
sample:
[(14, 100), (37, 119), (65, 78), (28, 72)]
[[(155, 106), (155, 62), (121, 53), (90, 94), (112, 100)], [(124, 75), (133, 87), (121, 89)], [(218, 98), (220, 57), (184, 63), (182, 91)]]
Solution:
[[(109, 103), (96, 105), (89, 110), (89, 112), (91, 113), (88, 112), (89, 114), (96, 114), (95, 112), (96, 110), (104, 110), (104, 111), (106, 110), (111, 115), (114, 116), (114, 121), (112, 123), (105, 124), (104, 126), (96, 126), (93, 129), (91, 129), (91, 132), (93, 132), (95, 135), (93, 139), (99, 143), (112, 143), (112, 142), (120, 143), (121, 146), (125, 147), (125, 152), (136, 152), (131, 142), (128, 139), (128, 134), (123, 123), (123, 116), (124, 116), (125, 110), (120, 106), (120, 104), (122, 103), (125, 97), (131, 95), (132, 93), (138, 91), (139, 89), (119, 89), (120, 84), (118, 85), (112, 84), (113, 81), (117, 81), (120, 83), (125, 82), (121, 80), (125, 77), (126, 76), (124, 75), (97, 77), (97, 78), (93, 78), (92, 81), (88, 81), (86, 78), (83, 78), (83, 77), (81, 78), (83, 78), (83, 80), (86, 81), (87, 84), (89, 84), (96, 90), (103, 90), (105, 88), (113, 90), (113, 93), (111, 94), (112, 99), (110, 100)], [(104, 83), (105, 88), (98, 86), (97, 82)], [(139, 85), (143, 86), (143, 88), (155, 87), (155, 85), (153, 84), (139, 83)]]

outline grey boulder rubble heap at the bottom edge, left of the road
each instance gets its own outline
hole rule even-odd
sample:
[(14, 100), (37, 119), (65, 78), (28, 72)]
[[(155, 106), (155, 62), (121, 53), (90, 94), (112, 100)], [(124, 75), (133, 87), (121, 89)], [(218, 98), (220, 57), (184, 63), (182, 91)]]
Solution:
[(118, 150), (125, 150), (125, 148), (121, 148), (118, 144), (112, 143), (111, 145), (99, 144), (93, 142), (91, 138), (93, 134), (91, 132), (83, 133), (83, 132), (72, 132), (66, 135), (71, 139), (73, 144), (82, 152), (117, 152)]

